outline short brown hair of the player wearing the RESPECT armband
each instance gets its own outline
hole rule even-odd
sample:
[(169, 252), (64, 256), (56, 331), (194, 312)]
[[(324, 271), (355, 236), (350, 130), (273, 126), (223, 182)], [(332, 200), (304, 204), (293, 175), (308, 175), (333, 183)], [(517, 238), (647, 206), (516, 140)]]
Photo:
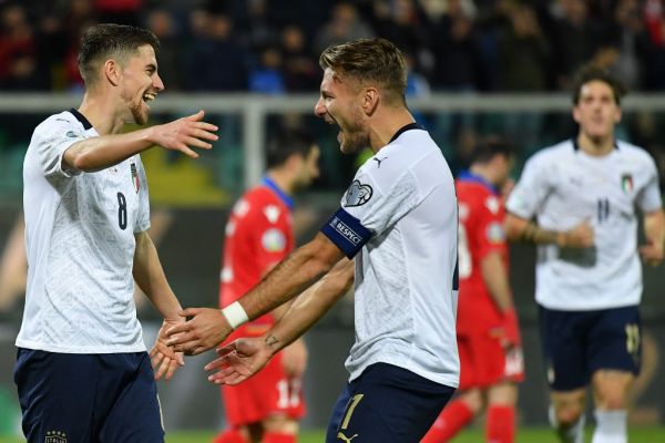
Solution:
[(381, 38), (359, 39), (328, 47), (319, 58), (321, 69), (330, 68), (361, 84), (376, 82), (405, 101), (407, 65), (401, 51)]

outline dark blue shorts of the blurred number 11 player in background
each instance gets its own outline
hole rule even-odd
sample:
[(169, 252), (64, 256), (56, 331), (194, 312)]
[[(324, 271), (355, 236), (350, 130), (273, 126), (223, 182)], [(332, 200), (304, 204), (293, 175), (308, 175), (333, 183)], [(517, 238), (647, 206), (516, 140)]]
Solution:
[(548, 383), (554, 391), (589, 384), (602, 369), (640, 373), (642, 322), (636, 306), (592, 311), (540, 307)]

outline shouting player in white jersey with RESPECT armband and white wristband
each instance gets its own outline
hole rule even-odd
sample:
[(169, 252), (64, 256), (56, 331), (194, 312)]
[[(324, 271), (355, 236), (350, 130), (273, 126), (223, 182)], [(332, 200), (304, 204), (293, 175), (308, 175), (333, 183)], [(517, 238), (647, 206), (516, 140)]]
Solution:
[(419, 442), (459, 382), (452, 175), (406, 106), (405, 61), (392, 43), (361, 39), (334, 45), (319, 62), (316, 115), (339, 126), (342, 153), (370, 147), (375, 155), (313, 240), (222, 311), (186, 309), (183, 315), (194, 318), (172, 328), (171, 343), (192, 353), (211, 349), (248, 318), (315, 285), (262, 338), (228, 344), (206, 367), (219, 370), (211, 381), (236, 384), (344, 293), (352, 279), (344, 257), (355, 257), (356, 342), (327, 442)]

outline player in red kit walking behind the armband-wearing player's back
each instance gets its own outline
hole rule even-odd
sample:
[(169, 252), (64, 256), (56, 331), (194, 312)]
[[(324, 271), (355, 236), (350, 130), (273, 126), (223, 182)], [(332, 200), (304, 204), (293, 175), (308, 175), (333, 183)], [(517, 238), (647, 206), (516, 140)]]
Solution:
[(508, 276), (501, 195), (512, 163), (510, 146), (491, 137), (477, 146), (470, 169), (456, 181), (460, 393), (443, 409), (423, 443), (449, 441), (485, 408), (487, 441), (514, 441), (516, 382), (523, 379), (523, 361)]

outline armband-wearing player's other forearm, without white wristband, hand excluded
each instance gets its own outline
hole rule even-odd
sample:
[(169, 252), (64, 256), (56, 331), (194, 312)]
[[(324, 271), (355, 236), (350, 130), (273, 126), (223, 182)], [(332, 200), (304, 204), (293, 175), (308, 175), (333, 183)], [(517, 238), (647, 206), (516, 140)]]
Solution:
[(340, 260), (294, 300), (288, 311), (264, 334), (265, 344), (275, 353), (301, 337), (350, 289), (354, 276), (354, 261)]

